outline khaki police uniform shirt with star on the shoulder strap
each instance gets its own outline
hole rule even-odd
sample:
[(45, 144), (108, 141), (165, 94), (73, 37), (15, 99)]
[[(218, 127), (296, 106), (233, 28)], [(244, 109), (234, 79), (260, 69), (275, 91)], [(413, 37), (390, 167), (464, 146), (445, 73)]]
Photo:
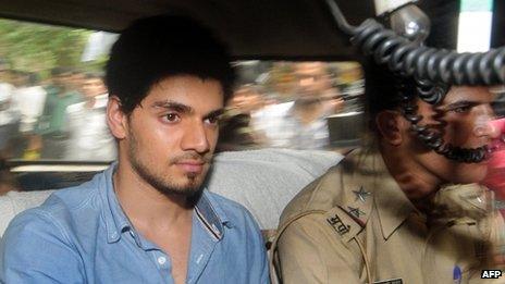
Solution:
[(459, 269), (460, 283), (493, 283), (481, 280), (481, 270), (503, 269), (496, 252), (505, 226), (492, 197), (475, 184), (446, 186), (424, 214), (380, 155), (350, 153), (284, 210), (272, 245), (272, 277), (304, 284), (457, 283), (453, 273)]

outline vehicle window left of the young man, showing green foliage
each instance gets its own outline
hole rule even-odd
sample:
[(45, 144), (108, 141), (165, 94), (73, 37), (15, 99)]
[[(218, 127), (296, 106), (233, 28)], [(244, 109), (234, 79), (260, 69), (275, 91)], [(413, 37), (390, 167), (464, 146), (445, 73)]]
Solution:
[(107, 161), (103, 65), (115, 35), (0, 20), (0, 153)]

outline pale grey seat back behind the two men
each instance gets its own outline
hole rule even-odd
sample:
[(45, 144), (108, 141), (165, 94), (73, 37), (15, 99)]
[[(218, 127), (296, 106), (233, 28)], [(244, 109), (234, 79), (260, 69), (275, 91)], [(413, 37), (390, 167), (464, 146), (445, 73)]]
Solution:
[[(316, 150), (221, 152), (214, 158), (207, 186), (246, 207), (263, 233), (271, 235), (287, 202), (342, 158), (336, 152)], [(14, 215), (40, 205), (52, 192), (10, 192), (0, 196), (0, 236)]]

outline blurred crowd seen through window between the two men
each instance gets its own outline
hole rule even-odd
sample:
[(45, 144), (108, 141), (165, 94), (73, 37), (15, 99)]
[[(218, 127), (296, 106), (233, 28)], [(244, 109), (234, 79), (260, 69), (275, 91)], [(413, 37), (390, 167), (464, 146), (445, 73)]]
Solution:
[(221, 123), (221, 151), (331, 149), (328, 118), (362, 111), (362, 72), (354, 62), (242, 62), (237, 70), (239, 84)]

